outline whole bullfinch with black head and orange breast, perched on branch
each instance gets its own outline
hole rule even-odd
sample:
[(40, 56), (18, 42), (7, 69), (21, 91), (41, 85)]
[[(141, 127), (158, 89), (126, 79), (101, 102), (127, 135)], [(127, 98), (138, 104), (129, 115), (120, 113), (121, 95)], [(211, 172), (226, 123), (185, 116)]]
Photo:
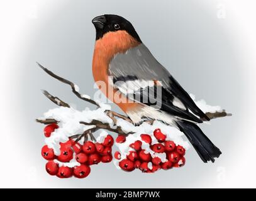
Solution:
[(204, 163), (214, 163), (221, 151), (198, 126), (209, 117), (152, 55), (130, 21), (104, 14), (93, 18), (92, 24), (96, 29), (92, 75), (101, 92), (135, 125), (154, 119), (175, 126)]

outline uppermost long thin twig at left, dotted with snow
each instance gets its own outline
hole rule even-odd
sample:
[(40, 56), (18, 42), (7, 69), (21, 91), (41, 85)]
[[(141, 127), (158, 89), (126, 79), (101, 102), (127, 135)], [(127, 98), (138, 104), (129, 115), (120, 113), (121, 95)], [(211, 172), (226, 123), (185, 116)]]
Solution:
[(75, 85), (73, 82), (70, 82), (69, 80), (66, 80), (58, 75), (56, 75), (55, 73), (53, 73), (52, 71), (48, 70), (47, 68), (43, 67), (40, 63), (37, 63), (39, 65), (40, 68), (42, 68), (48, 75), (52, 76), (53, 78), (59, 80), (60, 82), (63, 82), (65, 84), (70, 85), (70, 87), (72, 88), (72, 92), (79, 97), (79, 99), (82, 100), (86, 100), (87, 102), (90, 102), (91, 104), (94, 104), (95, 106), (99, 107), (99, 104), (97, 104), (96, 101), (89, 99), (86, 95), (82, 95), (79, 93), (79, 89), (77, 87), (77, 85)]

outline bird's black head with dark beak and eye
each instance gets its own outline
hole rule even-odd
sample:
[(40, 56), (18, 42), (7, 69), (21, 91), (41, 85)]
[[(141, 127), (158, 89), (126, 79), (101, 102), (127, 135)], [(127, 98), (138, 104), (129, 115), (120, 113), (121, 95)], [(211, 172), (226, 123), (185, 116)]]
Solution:
[(92, 23), (96, 28), (96, 40), (102, 38), (104, 34), (109, 31), (123, 30), (133, 36), (133, 38), (140, 43), (142, 42), (130, 21), (121, 16), (115, 14), (104, 14), (93, 18)]

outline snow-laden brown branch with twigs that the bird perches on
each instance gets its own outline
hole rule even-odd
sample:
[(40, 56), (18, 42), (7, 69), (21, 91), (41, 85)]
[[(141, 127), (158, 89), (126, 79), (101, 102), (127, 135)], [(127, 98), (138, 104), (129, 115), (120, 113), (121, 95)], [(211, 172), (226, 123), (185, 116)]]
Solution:
[[(59, 80), (60, 82), (63, 82), (64, 84), (70, 85), (72, 92), (77, 95), (79, 99), (85, 100), (86, 102), (90, 102), (91, 104), (97, 106), (97, 109), (94, 111), (91, 111), (88, 108), (84, 111), (77, 111), (70, 107), (69, 104), (64, 102), (64, 100), (51, 95), (49, 92), (47, 92), (47, 90), (43, 90), (43, 94), (60, 107), (46, 112), (44, 115), (45, 117), (36, 119), (36, 122), (40, 122), (42, 124), (63, 124), (63, 129), (58, 130), (66, 134), (65, 136), (58, 136), (58, 134), (56, 134), (55, 139), (52, 139), (52, 142), (48, 142), (48, 144), (56, 144), (57, 140), (65, 141), (67, 138), (77, 138), (76, 141), (80, 141), (82, 138), (84, 138), (84, 141), (86, 141), (88, 136), (90, 136), (92, 140), (95, 140), (92, 133), (98, 129), (104, 129), (127, 136), (128, 134), (135, 134), (138, 132), (143, 133), (146, 128), (149, 129), (145, 125), (151, 126), (152, 128), (155, 126), (155, 124), (161, 124), (163, 126), (162, 123), (157, 121), (145, 121), (142, 122), (143, 126), (142, 124), (140, 126), (134, 126), (129, 117), (111, 111), (109, 109), (110, 106), (92, 100), (89, 95), (80, 94), (79, 87), (73, 82), (70, 82), (69, 80), (56, 75), (55, 73), (40, 65), (40, 63), (38, 63), (38, 65), (51, 77)], [(192, 99), (195, 99), (194, 95), (192, 94), (191, 97)], [(205, 112), (209, 119), (231, 116), (231, 114), (227, 114), (225, 110), (221, 110), (219, 106), (208, 106), (204, 100), (195, 102), (198, 107), (201, 108), (203, 112)]]

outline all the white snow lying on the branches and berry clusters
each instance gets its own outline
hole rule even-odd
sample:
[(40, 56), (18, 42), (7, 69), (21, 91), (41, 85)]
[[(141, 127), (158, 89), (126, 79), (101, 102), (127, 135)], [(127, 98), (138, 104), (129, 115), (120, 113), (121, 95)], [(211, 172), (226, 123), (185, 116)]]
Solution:
[[(77, 85), (74, 85), (74, 87), (76, 91), (79, 91), (79, 87)], [(86, 97), (87, 99), (91, 98), (87, 95), (82, 95), (82, 97)], [(192, 94), (191, 98), (196, 102), (196, 105), (200, 109), (202, 109), (203, 112), (213, 112), (221, 110), (220, 106), (209, 106), (204, 100), (196, 101), (195, 96)], [(45, 139), (45, 143), (49, 148), (53, 148), (55, 155), (60, 155), (60, 142), (64, 143), (65, 141), (69, 140), (70, 136), (73, 136), (75, 134), (82, 134), (85, 130), (94, 127), (81, 124), (81, 121), (91, 122), (93, 119), (101, 121), (103, 123), (108, 123), (111, 128), (116, 128), (116, 126), (120, 126), (123, 131), (127, 133), (134, 133), (126, 137), (125, 143), (116, 143), (116, 146), (118, 146), (118, 149), (121, 153), (120, 160), (126, 158), (128, 152), (133, 150), (129, 146), (131, 143), (134, 143), (136, 140), (142, 141), (142, 139), (140, 138), (140, 134), (150, 134), (152, 138), (152, 143), (157, 143), (157, 139), (155, 139), (155, 137), (153, 136), (153, 131), (157, 128), (160, 128), (162, 133), (167, 135), (167, 140), (174, 141), (175, 144), (183, 146), (186, 150), (191, 148), (188, 140), (184, 137), (184, 134), (179, 131), (179, 129), (173, 126), (167, 126), (160, 121), (154, 121), (152, 125), (143, 122), (143, 124), (141, 124), (140, 126), (134, 126), (130, 122), (117, 118), (116, 126), (114, 126), (113, 120), (105, 113), (106, 110), (111, 110), (111, 106), (99, 102), (98, 100), (96, 100), (96, 102), (97, 104), (99, 104), (99, 108), (95, 110), (90, 110), (88, 107), (86, 107), (83, 111), (78, 111), (77, 109), (74, 109), (74, 107), (56, 107), (54, 109), (50, 109), (48, 112), (45, 112), (45, 114), (43, 114), (42, 119), (56, 119), (59, 122), (59, 128), (55, 129), (52, 135), (49, 138)], [(97, 141), (102, 143), (104, 137), (107, 134), (107, 131), (101, 130), (101, 133), (97, 137)], [(150, 149), (149, 144), (145, 143), (144, 141), (142, 141), (142, 148), (148, 151), (148, 153), (150, 153), (153, 158), (157, 156), (163, 162), (166, 161), (165, 153), (154, 153)], [(118, 169), (120, 169), (120, 160), (113, 160), (114, 165)], [(80, 165), (77, 161), (75, 161), (75, 159), (70, 161), (70, 163), (62, 163), (56, 160), (56, 163), (70, 167)]]

